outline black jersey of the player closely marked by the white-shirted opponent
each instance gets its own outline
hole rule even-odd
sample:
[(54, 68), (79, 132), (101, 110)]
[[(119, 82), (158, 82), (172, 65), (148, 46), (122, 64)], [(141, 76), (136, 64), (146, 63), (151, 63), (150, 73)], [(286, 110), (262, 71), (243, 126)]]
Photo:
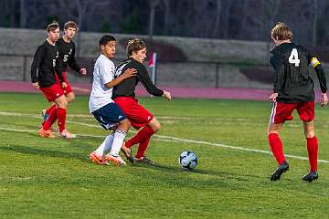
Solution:
[(147, 69), (142, 63), (129, 58), (124, 60), (115, 70), (115, 78), (119, 77), (126, 69), (135, 68), (137, 70), (137, 75), (132, 78), (124, 79), (120, 84), (114, 87), (112, 99), (117, 97), (135, 97), (134, 90), (139, 81), (143, 84), (143, 87), (154, 96), (161, 97), (164, 95), (164, 91), (157, 89), (154, 86), (151, 78), (148, 75)]

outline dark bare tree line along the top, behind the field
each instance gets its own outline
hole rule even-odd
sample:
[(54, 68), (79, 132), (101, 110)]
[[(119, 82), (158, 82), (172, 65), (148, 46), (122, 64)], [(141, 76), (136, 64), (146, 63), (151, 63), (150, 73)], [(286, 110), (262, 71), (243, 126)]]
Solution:
[(281, 21), (297, 42), (324, 47), (328, 9), (327, 0), (0, 0), (0, 26), (74, 20), (90, 32), (269, 41)]

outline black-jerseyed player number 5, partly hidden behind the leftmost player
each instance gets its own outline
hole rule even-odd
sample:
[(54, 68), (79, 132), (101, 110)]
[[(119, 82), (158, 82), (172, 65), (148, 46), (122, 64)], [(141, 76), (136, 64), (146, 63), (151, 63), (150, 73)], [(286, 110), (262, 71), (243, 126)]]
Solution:
[[(63, 88), (64, 94), (67, 98), (68, 103), (70, 103), (74, 99), (74, 93), (71, 89), (71, 86), (69, 85), (68, 79), (67, 79), (67, 68), (68, 65), (73, 70), (80, 72), (82, 75), (87, 74), (86, 68), (80, 68), (80, 66), (77, 64), (77, 61), (75, 59), (75, 44), (72, 41), (72, 38), (76, 35), (78, 31), (78, 26), (73, 21), (68, 21), (64, 25), (64, 36), (60, 37), (58, 41), (56, 42), (56, 45), (58, 46), (58, 52), (59, 52), (59, 58), (58, 58), (58, 71), (60, 71), (63, 75), (64, 81), (66, 83), (66, 87)], [(60, 80), (58, 78), (58, 75), (56, 75), (56, 80), (58, 84), (60, 85)], [(53, 104), (50, 108), (47, 110), (42, 110), (42, 115), (44, 117), (44, 120), (46, 120), (51, 112), (51, 110), (54, 110), (56, 108), (56, 105)]]

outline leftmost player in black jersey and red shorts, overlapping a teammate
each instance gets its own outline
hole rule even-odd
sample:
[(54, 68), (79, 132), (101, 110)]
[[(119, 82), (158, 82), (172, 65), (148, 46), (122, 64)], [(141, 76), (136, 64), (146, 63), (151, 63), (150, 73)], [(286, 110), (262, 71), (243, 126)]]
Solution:
[(62, 86), (65, 88), (67, 85), (61, 72), (58, 73), (58, 78), (61, 85), (56, 82), (55, 72), (57, 71), (58, 62), (58, 47), (56, 41), (59, 37), (59, 26), (57, 23), (52, 23), (47, 27), (48, 38), (41, 46), (37, 47), (31, 66), (31, 80), (32, 85), (41, 89), (46, 99), (49, 102), (54, 102), (56, 108), (51, 111), (48, 119), (43, 123), (39, 130), (39, 136), (45, 138), (54, 138), (51, 132), (51, 124), (58, 120), (58, 136), (63, 138), (74, 138), (75, 136), (65, 129), (66, 122), (66, 107), (68, 101), (64, 95)]

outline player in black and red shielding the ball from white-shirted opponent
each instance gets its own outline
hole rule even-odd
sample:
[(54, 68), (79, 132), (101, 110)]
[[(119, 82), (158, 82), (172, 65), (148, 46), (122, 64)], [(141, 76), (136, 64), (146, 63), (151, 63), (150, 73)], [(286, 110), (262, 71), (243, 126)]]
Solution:
[[(145, 110), (142, 105), (135, 99), (135, 87), (139, 81), (143, 87), (154, 96), (164, 96), (170, 100), (171, 94), (165, 90), (157, 89), (148, 75), (147, 69), (143, 66), (143, 60), (146, 57), (146, 46), (143, 40), (133, 38), (128, 41), (126, 47), (128, 59), (124, 60), (117, 68), (115, 77), (120, 77), (122, 72), (127, 68), (135, 68), (137, 75), (132, 78), (125, 79), (113, 89), (113, 99), (131, 121), (133, 128), (139, 130), (136, 135), (122, 146), (122, 152), (130, 162), (143, 162), (147, 164), (155, 164), (145, 156), (145, 151), (150, 142), (152, 135), (160, 130), (161, 126), (154, 115)], [(132, 146), (139, 144), (137, 153), (134, 158), (132, 156)]]

